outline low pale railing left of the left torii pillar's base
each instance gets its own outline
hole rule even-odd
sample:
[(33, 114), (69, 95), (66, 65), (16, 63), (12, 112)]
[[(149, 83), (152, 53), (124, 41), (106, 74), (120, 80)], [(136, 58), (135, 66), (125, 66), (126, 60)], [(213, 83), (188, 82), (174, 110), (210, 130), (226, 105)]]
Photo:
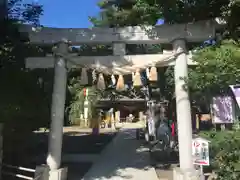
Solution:
[[(16, 177), (16, 178), (19, 178), (19, 179), (35, 180), (35, 178), (34, 178), (34, 174), (36, 172), (35, 169), (25, 168), (25, 167), (21, 167), (21, 166), (12, 166), (12, 165), (8, 165), (8, 164), (2, 164), (2, 168), (4, 168), (4, 167), (8, 168), (9, 171), (2, 170), (2, 175), (12, 176), (12, 177)], [(18, 170), (18, 171), (27, 172), (27, 173), (33, 173), (33, 175), (32, 176), (26, 176), (26, 175), (22, 175), (22, 174), (19, 174), (19, 173), (13, 173), (13, 172), (11, 172), (13, 170)]]

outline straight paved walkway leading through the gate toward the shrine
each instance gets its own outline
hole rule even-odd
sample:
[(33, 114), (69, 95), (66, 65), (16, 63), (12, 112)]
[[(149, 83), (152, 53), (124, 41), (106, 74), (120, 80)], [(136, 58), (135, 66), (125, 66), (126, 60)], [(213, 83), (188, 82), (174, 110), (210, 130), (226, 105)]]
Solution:
[(158, 180), (149, 162), (148, 150), (136, 140), (135, 130), (122, 129), (82, 180)]

